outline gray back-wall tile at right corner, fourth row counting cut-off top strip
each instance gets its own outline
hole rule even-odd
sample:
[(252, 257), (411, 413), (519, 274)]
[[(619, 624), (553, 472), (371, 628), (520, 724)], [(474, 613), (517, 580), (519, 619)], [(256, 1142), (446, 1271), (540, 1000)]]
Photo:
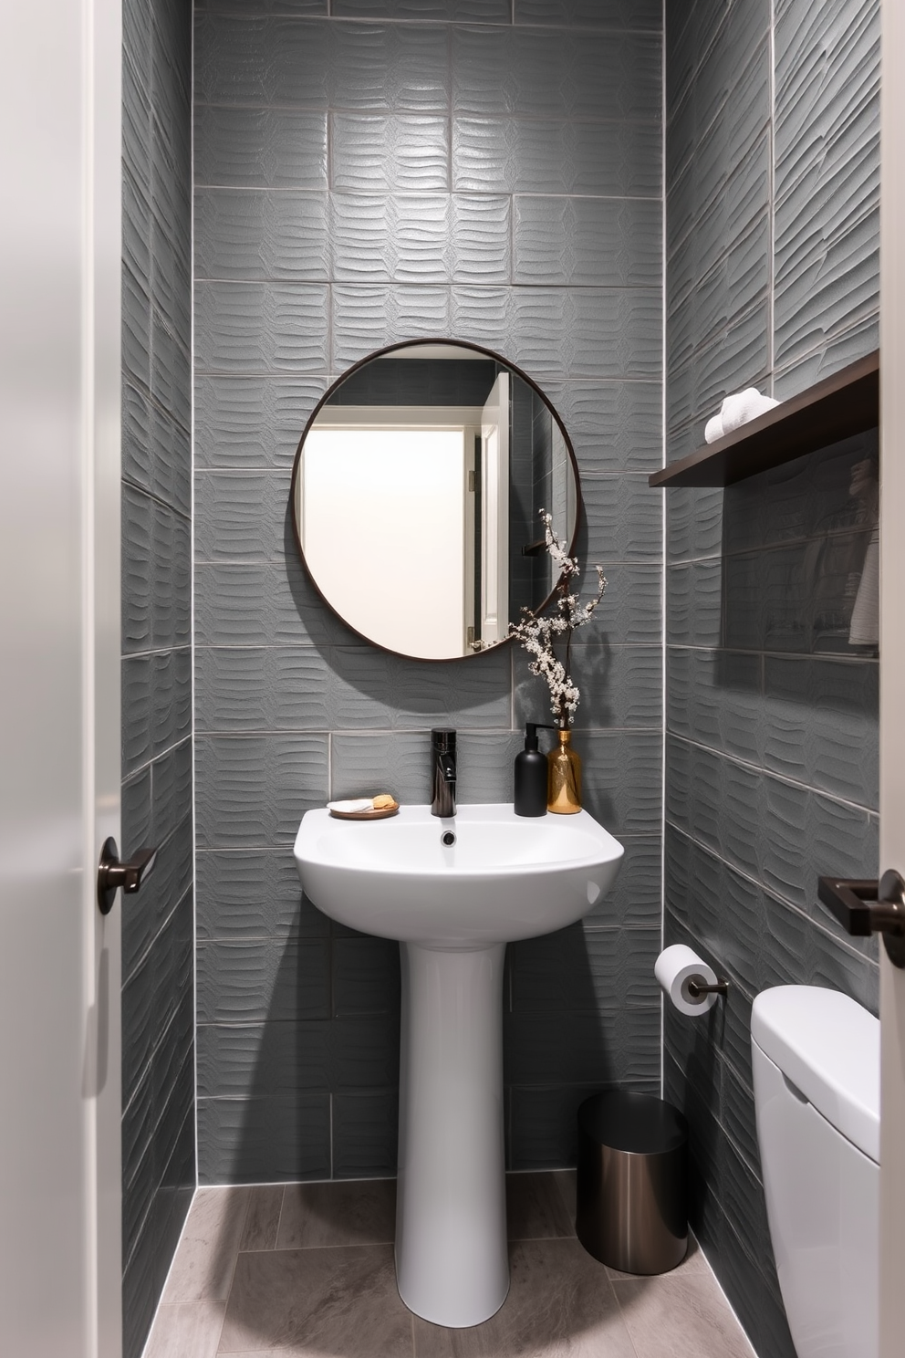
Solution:
[(661, 204), (617, 198), (516, 198), (513, 281), (655, 287)]

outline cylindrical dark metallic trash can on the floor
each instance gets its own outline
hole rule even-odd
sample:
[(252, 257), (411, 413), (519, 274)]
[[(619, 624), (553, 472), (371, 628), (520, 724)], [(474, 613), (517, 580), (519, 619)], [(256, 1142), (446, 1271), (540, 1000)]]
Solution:
[(623, 1272), (668, 1272), (688, 1249), (688, 1123), (653, 1095), (594, 1095), (578, 1109), (575, 1233)]

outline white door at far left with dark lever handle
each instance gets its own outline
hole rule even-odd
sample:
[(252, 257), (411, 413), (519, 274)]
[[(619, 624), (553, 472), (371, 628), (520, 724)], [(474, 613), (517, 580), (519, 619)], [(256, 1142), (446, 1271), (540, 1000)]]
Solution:
[(121, 1350), (121, 16), (5, 4), (0, 1354)]

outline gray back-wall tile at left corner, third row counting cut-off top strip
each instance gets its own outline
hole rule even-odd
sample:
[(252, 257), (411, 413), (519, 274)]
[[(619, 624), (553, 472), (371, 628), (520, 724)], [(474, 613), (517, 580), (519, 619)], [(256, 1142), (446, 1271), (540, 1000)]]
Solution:
[(195, 185), (326, 189), (326, 111), (198, 105)]

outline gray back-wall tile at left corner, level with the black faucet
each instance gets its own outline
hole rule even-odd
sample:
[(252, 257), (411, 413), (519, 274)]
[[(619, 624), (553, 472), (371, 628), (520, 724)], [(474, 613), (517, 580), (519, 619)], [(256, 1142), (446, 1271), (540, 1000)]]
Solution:
[(327, 736), (214, 736), (195, 748), (198, 847), (292, 843), (327, 801)]

